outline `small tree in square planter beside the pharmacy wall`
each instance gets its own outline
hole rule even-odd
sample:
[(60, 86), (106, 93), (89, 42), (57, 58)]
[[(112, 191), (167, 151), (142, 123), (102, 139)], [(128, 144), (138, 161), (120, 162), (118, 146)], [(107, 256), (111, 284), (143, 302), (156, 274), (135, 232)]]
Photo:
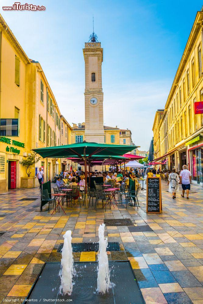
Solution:
[(34, 177), (30, 177), (32, 172), (31, 166), (40, 160), (37, 153), (32, 152), (28, 157), (21, 161), (21, 164), (26, 167), (27, 177), (21, 177), (21, 188), (34, 188)]

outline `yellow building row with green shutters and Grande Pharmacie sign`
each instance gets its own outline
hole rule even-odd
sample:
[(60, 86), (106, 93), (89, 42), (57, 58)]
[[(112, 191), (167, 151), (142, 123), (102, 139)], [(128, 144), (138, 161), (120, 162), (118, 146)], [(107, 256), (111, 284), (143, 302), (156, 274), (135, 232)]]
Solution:
[[(0, 15), (0, 193), (9, 188), (39, 186), (61, 170), (61, 160), (40, 159), (26, 175), (22, 160), (33, 148), (71, 142), (72, 127), (61, 116), (54, 94), (39, 62), (30, 60)], [(63, 126), (64, 134), (61, 134)], [(66, 131), (67, 132), (66, 132)], [(63, 161), (63, 160), (62, 160)], [(65, 163), (68, 165), (68, 163)]]

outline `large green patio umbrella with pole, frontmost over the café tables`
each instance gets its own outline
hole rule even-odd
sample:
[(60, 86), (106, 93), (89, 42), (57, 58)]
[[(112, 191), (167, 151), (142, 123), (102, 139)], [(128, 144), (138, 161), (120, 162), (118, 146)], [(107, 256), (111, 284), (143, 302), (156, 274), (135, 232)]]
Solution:
[(47, 147), (32, 149), (34, 152), (38, 153), (41, 157), (79, 157), (84, 160), (85, 163), (85, 190), (86, 190), (86, 208), (87, 208), (87, 162), (90, 159), (102, 156), (102, 157), (114, 157), (126, 154), (138, 146), (127, 146), (127, 145), (109, 145), (102, 143), (87, 143), (83, 141), (82, 143), (74, 143), (71, 145), (63, 145), (56, 147)]

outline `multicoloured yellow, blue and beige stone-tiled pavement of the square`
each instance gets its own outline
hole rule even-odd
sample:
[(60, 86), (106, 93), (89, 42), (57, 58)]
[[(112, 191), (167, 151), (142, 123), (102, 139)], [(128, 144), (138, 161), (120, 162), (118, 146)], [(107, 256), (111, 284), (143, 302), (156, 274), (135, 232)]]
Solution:
[[(110, 242), (121, 251), (109, 260), (130, 260), (148, 303), (203, 303), (203, 188), (191, 186), (190, 199), (172, 199), (162, 181), (162, 214), (146, 214), (146, 191), (138, 195), (140, 208), (118, 204), (113, 209), (88, 210), (79, 204), (53, 215), (39, 210), (39, 188), (10, 190), (0, 195), (0, 300), (25, 299), (44, 262), (60, 261), (57, 249), (63, 234), (72, 242), (98, 241), (103, 219), (129, 218), (151, 232), (130, 232), (127, 226), (107, 226)], [(22, 199), (37, 198), (37, 200)], [(83, 204), (82, 204), (83, 205)], [(52, 212), (52, 211), (51, 211)], [(5, 232), (5, 233), (4, 233)], [(96, 261), (97, 253), (74, 253), (75, 261)]]

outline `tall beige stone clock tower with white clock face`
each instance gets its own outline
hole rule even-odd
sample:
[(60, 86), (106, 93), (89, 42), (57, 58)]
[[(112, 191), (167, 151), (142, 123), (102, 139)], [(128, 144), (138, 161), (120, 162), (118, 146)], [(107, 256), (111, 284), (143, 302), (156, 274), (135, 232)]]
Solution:
[(103, 48), (93, 32), (85, 43), (85, 140), (104, 143), (102, 61)]

